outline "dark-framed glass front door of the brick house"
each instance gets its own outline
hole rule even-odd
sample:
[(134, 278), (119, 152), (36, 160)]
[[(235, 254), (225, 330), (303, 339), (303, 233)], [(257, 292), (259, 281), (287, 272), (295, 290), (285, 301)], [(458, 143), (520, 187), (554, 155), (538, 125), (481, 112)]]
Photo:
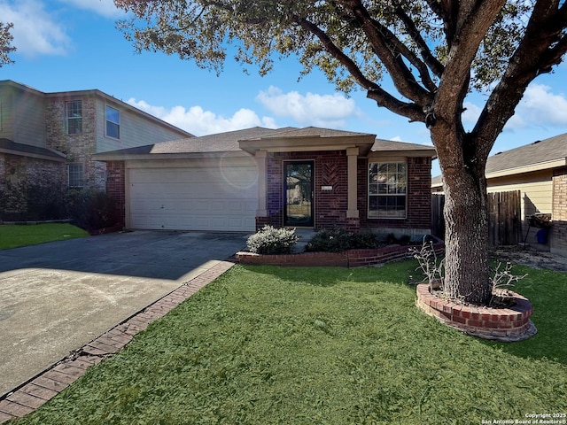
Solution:
[(283, 163), (284, 226), (313, 227), (313, 168), (313, 161)]

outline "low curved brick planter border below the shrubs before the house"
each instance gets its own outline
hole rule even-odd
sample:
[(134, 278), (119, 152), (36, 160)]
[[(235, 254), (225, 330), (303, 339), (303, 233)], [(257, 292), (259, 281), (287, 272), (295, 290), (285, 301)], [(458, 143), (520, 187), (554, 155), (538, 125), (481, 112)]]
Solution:
[[(368, 267), (389, 261), (412, 257), (411, 248), (421, 245), (387, 245), (382, 248), (348, 250), (342, 252), (301, 252), (297, 254), (260, 255), (252, 252), (237, 252), (241, 264), (295, 267)], [(445, 244), (438, 242), (433, 248), (439, 254), (445, 251)]]

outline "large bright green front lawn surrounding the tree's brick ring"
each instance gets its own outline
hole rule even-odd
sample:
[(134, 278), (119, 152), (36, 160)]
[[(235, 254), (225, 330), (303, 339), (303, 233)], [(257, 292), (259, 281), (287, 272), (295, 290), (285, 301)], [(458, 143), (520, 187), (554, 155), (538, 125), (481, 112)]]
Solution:
[(421, 313), (404, 283), (415, 267), (233, 267), (16, 423), (415, 425), (567, 413), (566, 274), (518, 267), (539, 333), (502, 344)]

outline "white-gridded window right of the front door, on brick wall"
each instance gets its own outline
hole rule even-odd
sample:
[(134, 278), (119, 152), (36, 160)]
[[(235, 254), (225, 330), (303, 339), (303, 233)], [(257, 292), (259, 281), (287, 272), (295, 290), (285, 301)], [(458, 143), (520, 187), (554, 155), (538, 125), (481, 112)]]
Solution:
[(405, 219), (407, 204), (405, 162), (369, 164), (369, 219)]

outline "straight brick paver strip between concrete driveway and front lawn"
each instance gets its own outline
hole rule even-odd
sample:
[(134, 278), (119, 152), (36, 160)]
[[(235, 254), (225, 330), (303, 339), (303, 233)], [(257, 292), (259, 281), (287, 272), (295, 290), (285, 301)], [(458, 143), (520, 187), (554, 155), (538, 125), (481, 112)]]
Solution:
[(59, 360), (39, 375), (4, 394), (0, 397), (0, 423), (22, 417), (43, 406), (84, 375), (90, 366), (100, 363), (105, 357), (120, 352), (138, 332), (147, 328), (152, 321), (165, 316), (233, 266), (233, 262), (220, 261), (166, 296), (159, 298), (155, 303), (134, 313), (125, 321), (90, 341), (89, 344), (71, 352), (66, 358)]

